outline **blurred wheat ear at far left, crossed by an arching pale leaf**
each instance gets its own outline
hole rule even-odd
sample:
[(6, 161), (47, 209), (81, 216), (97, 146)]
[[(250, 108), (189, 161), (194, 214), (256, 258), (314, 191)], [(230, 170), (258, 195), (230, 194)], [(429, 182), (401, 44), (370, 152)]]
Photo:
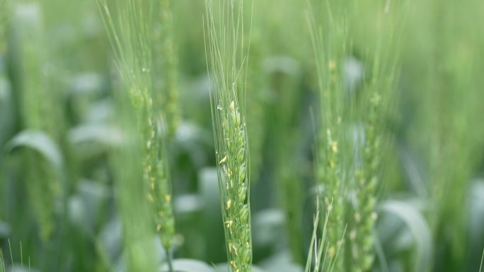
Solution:
[[(58, 91), (52, 88), (50, 77), (45, 76), (42, 66), (47, 61), (47, 46), (40, 5), (16, 6), (14, 23), (17, 25), (18, 54), (21, 78), (20, 104), (24, 129), (42, 131), (52, 140), (62, 140), (62, 114)], [(28, 181), (27, 193), (40, 228), (40, 237), (47, 241), (54, 233), (56, 199), (61, 194), (61, 182), (42, 155), (25, 150), (23, 162)]]

